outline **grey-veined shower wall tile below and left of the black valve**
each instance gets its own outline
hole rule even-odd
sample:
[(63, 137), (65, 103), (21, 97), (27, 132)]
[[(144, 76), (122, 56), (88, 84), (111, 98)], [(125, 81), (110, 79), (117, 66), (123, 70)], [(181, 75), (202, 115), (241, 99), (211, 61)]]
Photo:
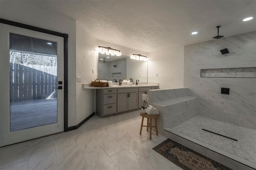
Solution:
[(200, 107), (224, 111), (224, 101), (200, 98)]

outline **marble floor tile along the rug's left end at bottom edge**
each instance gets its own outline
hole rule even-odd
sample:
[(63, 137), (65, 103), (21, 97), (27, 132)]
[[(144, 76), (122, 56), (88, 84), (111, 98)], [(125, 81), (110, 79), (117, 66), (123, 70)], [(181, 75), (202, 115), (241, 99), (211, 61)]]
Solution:
[(143, 170), (182, 170), (157, 152), (151, 152), (140, 160)]

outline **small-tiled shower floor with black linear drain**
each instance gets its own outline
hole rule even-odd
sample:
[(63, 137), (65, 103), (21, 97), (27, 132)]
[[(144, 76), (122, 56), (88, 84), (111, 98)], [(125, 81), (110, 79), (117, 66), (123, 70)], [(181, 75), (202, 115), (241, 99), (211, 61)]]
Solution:
[[(202, 129), (213, 131), (215, 133), (237, 139), (238, 141), (233, 141), (231, 139), (203, 131)], [(256, 164), (256, 130), (198, 115), (177, 127), (172, 128), (172, 130)]]

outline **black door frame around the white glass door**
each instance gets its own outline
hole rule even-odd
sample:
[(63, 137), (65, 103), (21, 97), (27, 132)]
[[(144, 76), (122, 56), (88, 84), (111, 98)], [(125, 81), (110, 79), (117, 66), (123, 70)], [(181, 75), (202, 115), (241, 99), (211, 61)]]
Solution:
[(0, 18), (0, 23), (7, 25), (12, 25), (15, 27), (20, 27), (24, 29), (30, 29), (32, 31), (38, 31), (41, 33), (47, 33), (50, 35), (56, 35), (58, 37), (63, 37), (64, 39), (64, 131), (68, 131), (68, 34), (59, 33), (56, 31), (51, 31), (49, 29), (44, 29), (40, 27), (34, 27), (32, 25), (26, 25), (24, 23), (19, 23), (15, 21), (5, 20)]

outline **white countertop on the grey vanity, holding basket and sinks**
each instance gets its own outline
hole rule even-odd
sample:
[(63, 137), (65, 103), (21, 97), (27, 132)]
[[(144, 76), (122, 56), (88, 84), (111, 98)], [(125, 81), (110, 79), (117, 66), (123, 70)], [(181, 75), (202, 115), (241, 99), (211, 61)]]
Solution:
[(111, 87), (94, 87), (91, 83), (83, 83), (83, 89), (100, 89), (100, 88), (140, 88), (140, 87), (155, 87), (158, 86), (158, 83), (147, 83), (147, 84), (138, 84), (138, 85), (114, 85)]

